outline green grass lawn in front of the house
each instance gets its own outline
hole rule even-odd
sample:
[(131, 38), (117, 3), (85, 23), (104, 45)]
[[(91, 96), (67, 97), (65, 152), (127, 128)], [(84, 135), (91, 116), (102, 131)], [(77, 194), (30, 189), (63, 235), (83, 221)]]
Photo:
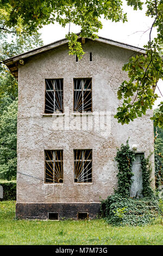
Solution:
[(15, 220), (15, 201), (0, 202), (0, 245), (162, 245), (163, 225), (112, 227), (105, 221)]

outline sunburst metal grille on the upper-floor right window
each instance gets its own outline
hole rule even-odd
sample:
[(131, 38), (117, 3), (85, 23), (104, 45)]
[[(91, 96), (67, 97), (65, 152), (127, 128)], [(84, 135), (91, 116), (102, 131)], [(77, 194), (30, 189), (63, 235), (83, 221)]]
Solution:
[(74, 112), (92, 112), (92, 79), (74, 78)]

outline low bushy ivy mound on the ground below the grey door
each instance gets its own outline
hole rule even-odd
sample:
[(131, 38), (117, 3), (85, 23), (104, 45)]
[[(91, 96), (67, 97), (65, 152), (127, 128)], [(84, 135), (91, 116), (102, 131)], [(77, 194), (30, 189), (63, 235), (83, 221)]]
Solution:
[(126, 198), (115, 193), (101, 204), (101, 214), (112, 225), (146, 225), (158, 216), (159, 204), (156, 197)]

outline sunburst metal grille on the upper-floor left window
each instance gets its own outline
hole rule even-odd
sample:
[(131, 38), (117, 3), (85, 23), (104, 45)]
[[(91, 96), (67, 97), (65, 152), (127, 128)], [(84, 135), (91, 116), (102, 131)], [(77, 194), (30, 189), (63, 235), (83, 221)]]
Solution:
[(46, 79), (45, 113), (63, 113), (63, 79)]

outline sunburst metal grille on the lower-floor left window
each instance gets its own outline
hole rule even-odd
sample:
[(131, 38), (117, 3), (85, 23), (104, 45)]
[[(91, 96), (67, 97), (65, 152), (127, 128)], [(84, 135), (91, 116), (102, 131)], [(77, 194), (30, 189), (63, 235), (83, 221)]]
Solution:
[(63, 181), (63, 150), (45, 150), (45, 182)]

